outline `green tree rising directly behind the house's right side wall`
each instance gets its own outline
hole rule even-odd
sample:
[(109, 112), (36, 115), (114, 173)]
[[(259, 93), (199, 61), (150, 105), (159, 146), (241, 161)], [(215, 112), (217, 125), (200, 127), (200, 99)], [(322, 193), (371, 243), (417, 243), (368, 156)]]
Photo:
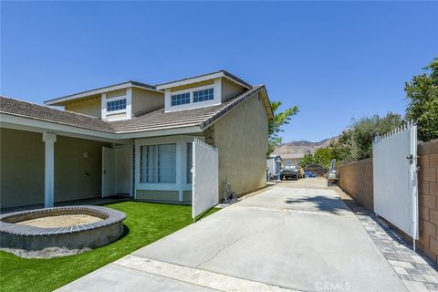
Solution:
[(267, 154), (271, 154), (272, 151), (281, 144), (282, 139), (280, 137), (280, 132), (283, 130), (281, 127), (287, 125), (292, 118), (298, 113), (298, 107), (293, 106), (283, 111), (278, 111), (281, 106), (281, 101), (271, 101), (271, 109), (274, 113), (274, 119), (269, 120), (269, 148)]

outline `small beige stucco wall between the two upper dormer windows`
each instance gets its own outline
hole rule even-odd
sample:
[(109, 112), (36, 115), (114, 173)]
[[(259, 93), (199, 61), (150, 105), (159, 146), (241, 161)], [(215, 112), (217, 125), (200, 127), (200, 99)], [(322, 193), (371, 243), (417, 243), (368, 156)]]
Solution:
[(164, 108), (164, 93), (146, 89), (132, 89), (132, 115)]

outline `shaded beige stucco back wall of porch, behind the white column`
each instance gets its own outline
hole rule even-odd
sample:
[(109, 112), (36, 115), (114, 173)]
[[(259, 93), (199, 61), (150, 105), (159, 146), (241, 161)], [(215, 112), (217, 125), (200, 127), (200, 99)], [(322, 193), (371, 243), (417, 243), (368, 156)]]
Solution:
[[(101, 195), (101, 147), (107, 143), (57, 136), (55, 202)], [(84, 158), (84, 152), (89, 153)], [(0, 207), (44, 203), (42, 134), (1, 129)]]

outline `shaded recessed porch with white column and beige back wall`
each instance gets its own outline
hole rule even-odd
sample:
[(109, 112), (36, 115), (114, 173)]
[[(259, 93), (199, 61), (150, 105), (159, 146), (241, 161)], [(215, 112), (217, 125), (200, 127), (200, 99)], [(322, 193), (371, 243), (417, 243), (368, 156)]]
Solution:
[[(132, 195), (132, 141), (110, 141), (57, 130), (20, 127), (1, 129), (2, 212), (11, 208), (53, 207), (63, 203), (93, 203), (102, 197)], [(124, 152), (110, 180), (103, 168), (105, 149)], [(123, 150), (123, 151), (121, 151)], [(126, 151), (130, 150), (130, 151)], [(117, 159), (115, 157), (115, 159)], [(124, 162), (124, 163), (120, 163)], [(114, 166), (117, 161), (114, 162)], [(104, 193), (105, 182), (116, 188)], [(117, 185), (125, 191), (118, 192)], [(126, 188), (128, 185), (128, 188)]]

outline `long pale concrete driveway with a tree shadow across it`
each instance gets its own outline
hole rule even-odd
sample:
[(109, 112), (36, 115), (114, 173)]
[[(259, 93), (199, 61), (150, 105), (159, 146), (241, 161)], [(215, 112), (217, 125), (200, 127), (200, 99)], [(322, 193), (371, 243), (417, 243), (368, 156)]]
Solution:
[(117, 290), (406, 291), (359, 220), (318, 181), (279, 183), (63, 289), (109, 291), (117, 275), (129, 281)]

